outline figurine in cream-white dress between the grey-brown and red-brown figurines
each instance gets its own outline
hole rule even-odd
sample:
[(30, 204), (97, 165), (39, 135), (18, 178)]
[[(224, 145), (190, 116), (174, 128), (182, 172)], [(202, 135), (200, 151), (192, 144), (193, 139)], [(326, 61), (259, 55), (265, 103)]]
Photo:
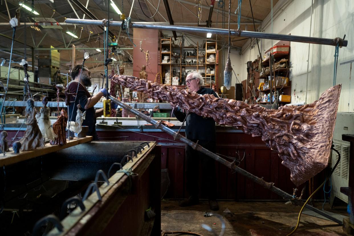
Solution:
[(45, 96), (42, 100), (43, 107), (40, 109), (39, 113), (36, 115), (38, 121), (38, 127), (42, 132), (42, 136), (44, 139), (54, 140), (56, 138), (56, 134), (54, 134), (53, 129), (51, 127), (51, 122), (49, 119), (50, 116), (50, 108), (47, 107), (48, 97)]

